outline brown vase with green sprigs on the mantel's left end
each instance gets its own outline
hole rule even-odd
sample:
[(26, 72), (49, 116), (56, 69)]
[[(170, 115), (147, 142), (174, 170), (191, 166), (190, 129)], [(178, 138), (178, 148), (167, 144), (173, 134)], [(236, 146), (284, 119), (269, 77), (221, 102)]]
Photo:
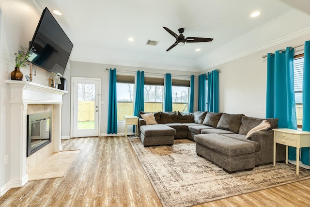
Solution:
[(23, 73), (20, 72), (19, 68), (26, 67), (25, 63), (33, 51), (35, 51), (33, 47), (28, 50), (21, 46), (20, 50), (15, 53), (15, 69), (11, 72), (11, 80), (23, 80)]

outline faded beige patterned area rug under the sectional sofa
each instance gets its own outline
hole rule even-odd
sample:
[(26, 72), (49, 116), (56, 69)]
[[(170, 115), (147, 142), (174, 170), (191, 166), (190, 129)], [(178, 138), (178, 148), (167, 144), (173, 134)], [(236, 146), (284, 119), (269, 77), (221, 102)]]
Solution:
[(172, 146), (144, 147), (128, 137), (164, 207), (186, 207), (310, 178), (310, 171), (277, 163), (228, 174), (197, 156), (195, 142), (174, 140)]

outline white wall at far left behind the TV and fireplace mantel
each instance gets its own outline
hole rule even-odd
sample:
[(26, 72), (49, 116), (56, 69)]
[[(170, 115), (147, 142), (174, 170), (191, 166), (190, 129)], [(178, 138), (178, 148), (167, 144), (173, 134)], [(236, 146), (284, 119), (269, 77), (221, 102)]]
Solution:
[[(20, 46), (27, 47), (39, 22), (39, 14), (29, 0), (0, 1), (0, 195), (10, 188), (11, 152), (10, 147), (10, 80), (15, 67), (15, 54)], [(24, 75), (29, 74), (29, 67), (21, 68)], [(33, 82), (47, 85), (47, 73), (37, 70)], [(4, 165), (4, 156), (9, 156)]]

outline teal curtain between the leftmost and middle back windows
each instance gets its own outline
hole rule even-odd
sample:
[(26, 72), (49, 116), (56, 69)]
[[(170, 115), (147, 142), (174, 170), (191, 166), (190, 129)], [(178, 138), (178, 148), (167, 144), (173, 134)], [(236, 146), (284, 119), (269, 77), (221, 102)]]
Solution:
[[(139, 111), (144, 111), (144, 71), (137, 71), (136, 81), (136, 97), (134, 116), (139, 116)], [(136, 127), (133, 127), (133, 132), (136, 131)]]

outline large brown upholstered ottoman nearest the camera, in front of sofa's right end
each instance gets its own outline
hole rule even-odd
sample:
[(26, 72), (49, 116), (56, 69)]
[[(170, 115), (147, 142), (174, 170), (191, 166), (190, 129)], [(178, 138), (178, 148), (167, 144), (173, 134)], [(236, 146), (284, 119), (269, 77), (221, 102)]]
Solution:
[(199, 134), (194, 139), (197, 155), (216, 163), (228, 173), (255, 167), (255, 148), (251, 143), (219, 134)]

